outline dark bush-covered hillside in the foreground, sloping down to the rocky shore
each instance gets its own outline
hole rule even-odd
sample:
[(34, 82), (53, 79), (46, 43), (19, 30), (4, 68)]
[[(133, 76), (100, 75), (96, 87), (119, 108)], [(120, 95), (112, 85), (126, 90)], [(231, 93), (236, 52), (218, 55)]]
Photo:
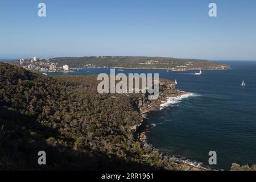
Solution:
[[(188, 169), (143, 146), (136, 97), (96, 76), (49, 77), (0, 63), (0, 169)], [(47, 165), (38, 165), (46, 151)]]

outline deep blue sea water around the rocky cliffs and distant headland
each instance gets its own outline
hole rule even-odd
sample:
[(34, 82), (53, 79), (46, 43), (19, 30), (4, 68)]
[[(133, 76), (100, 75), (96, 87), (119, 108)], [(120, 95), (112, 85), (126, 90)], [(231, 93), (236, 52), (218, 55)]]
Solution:
[[(208, 152), (217, 152), (215, 168), (256, 164), (256, 61), (228, 61), (226, 71), (166, 72), (126, 69), (124, 73), (159, 73), (177, 79), (177, 88), (195, 97), (147, 113), (155, 124), (147, 141), (165, 154), (180, 155), (208, 165)], [(89, 71), (89, 72), (88, 72)], [(109, 69), (82, 69), (68, 75), (109, 73)], [(63, 73), (53, 73), (61, 75)], [(242, 80), (246, 86), (242, 87)]]

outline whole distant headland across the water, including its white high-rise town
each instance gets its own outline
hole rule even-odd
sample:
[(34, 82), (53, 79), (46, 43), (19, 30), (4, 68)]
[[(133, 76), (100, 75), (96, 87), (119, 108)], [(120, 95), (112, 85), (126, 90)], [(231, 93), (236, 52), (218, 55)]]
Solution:
[[(177, 59), (173, 57), (144, 56), (90, 56), (90, 57), (55, 57), (48, 59), (21, 59), (13, 64), (29, 70), (57, 71), (66, 65), (74, 68), (127, 68), (127, 69), (170, 69), (172, 71), (188, 70), (222, 70), (230, 66), (200, 59)], [(40, 64), (38, 64), (40, 63)], [(67, 70), (66, 70), (67, 71)]]

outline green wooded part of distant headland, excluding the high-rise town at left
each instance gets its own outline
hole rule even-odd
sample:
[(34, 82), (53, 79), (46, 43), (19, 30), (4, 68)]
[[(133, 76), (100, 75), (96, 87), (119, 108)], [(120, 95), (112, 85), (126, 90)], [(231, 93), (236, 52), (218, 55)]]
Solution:
[(91, 57), (56, 57), (51, 59), (58, 65), (71, 68), (83, 67), (119, 67), (139, 69), (172, 69), (185, 71), (189, 69), (228, 69), (229, 65), (198, 59), (176, 59), (173, 57), (143, 56), (91, 56)]

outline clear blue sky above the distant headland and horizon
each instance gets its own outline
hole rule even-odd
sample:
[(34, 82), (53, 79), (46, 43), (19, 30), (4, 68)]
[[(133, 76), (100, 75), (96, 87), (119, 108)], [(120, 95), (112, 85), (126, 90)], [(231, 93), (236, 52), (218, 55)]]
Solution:
[(256, 1), (1, 0), (0, 58), (103, 55), (256, 60)]

